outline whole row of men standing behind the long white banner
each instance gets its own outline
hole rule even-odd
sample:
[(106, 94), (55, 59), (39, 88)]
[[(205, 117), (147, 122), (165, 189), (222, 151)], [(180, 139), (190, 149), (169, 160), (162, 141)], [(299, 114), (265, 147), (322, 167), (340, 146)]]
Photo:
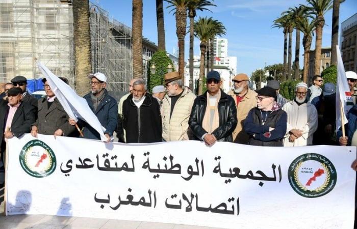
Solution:
[[(357, 146), (357, 74), (346, 72), (346, 76), (352, 99), (344, 137), (341, 131), (337, 136), (334, 131), (335, 85), (323, 85), (321, 76), (313, 77), (310, 88), (298, 83), (294, 99), (288, 101), (279, 94), (278, 81), (270, 80), (266, 87), (253, 91), (243, 73), (233, 78), (233, 89), (226, 94), (217, 71), (207, 74), (207, 91), (196, 97), (184, 87), (178, 72), (170, 72), (164, 75), (164, 85), (153, 88), (152, 94), (142, 78), (132, 79), (129, 92), (117, 102), (106, 90), (107, 77), (98, 72), (88, 76), (91, 92), (84, 98), (105, 127), (106, 142), (116, 132), (119, 142), (126, 143), (193, 139), (207, 146), (216, 141), (253, 146)], [(5, 84), (0, 95), (2, 153), (7, 139), (24, 133), (100, 139), (90, 124), (69, 118), (46, 79), (42, 82), (46, 97), (39, 100), (27, 92), (23, 76)]]

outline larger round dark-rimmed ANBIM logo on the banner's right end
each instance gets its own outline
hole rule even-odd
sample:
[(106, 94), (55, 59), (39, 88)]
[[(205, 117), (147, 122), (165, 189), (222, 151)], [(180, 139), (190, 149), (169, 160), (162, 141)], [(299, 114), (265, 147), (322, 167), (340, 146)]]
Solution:
[(325, 156), (309, 153), (295, 158), (289, 166), (288, 178), (296, 193), (315, 198), (326, 195), (335, 187), (337, 173)]

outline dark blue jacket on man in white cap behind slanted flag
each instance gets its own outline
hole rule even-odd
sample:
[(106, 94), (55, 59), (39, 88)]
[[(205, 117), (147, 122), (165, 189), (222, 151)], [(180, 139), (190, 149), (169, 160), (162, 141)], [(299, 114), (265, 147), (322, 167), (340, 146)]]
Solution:
[[(87, 103), (95, 116), (98, 118), (100, 124), (105, 127), (107, 130), (104, 132), (105, 134), (109, 134), (109, 136), (113, 135), (113, 132), (117, 126), (117, 114), (118, 114), (118, 104), (116, 100), (108, 95), (108, 91), (104, 89), (105, 96), (103, 100), (101, 100), (100, 104), (98, 104), (97, 110), (94, 111), (91, 99), (91, 92), (85, 95), (83, 98), (87, 100)], [(83, 135), (84, 138), (88, 139), (100, 139), (99, 133), (94, 130), (90, 125), (85, 122), (82, 122), (84, 127)]]

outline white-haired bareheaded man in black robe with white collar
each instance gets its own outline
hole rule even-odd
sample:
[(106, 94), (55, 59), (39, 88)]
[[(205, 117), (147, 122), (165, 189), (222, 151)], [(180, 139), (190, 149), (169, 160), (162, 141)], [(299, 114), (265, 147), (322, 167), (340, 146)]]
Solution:
[(151, 143), (162, 140), (160, 105), (147, 93), (144, 80), (133, 83), (133, 93), (123, 103), (126, 143)]

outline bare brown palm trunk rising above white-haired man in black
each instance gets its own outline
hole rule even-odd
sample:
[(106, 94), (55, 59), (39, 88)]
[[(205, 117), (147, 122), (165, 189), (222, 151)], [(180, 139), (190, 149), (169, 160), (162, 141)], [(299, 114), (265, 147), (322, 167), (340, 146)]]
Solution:
[(133, 0), (133, 77), (143, 77), (143, 2)]

